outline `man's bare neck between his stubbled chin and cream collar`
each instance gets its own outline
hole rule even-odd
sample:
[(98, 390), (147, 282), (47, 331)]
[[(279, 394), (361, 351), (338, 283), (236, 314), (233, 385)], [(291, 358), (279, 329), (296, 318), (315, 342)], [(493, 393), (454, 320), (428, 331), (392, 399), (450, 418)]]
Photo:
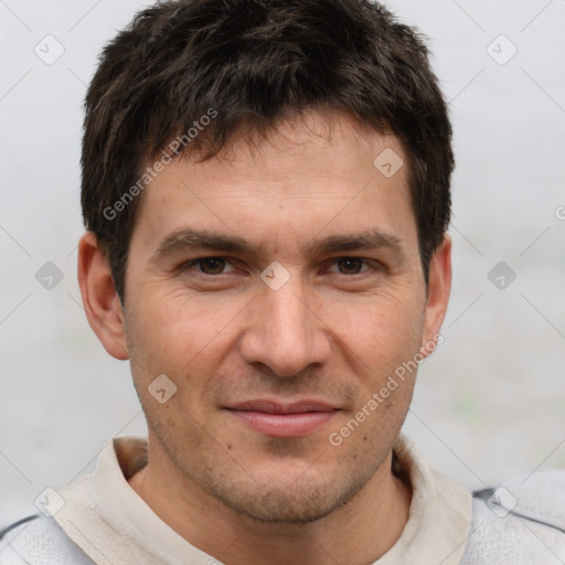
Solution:
[(366, 565), (394, 545), (408, 520), (411, 487), (392, 473), (391, 462), (392, 452), (348, 504), (307, 524), (243, 516), (178, 476), (170, 461), (152, 457), (151, 450), (149, 463), (129, 484), (179, 535), (227, 565)]

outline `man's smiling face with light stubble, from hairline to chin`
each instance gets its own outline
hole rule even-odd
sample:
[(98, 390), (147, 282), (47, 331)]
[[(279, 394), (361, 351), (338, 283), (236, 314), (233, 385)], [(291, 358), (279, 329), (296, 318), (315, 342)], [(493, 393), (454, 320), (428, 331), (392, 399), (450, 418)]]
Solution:
[[(327, 134), (310, 114), (252, 149), (166, 167), (127, 265), (150, 465), (266, 521), (319, 519), (376, 476), (415, 374), (339, 446), (335, 433), (438, 329), (406, 167), (373, 164), (387, 148), (406, 162), (399, 141), (342, 115)], [(148, 391), (162, 374), (177, 386), (163, 404)]]

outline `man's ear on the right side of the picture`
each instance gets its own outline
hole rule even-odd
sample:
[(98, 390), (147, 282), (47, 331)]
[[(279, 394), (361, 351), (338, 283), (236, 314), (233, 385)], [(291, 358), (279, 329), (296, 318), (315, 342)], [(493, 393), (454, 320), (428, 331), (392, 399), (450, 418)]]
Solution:
[[(428, 296), (424, 318), (423, 341), (420, 344), (420, 353), (424, 356), (427, 356), (436, 349), (435, 343), (438, 341), (437, 338), (441, 323), (446, 317), (450, 291), (451, 237), (446, 234), (429, 263)], [(443, 341), (443, 338), (440, 340)]]

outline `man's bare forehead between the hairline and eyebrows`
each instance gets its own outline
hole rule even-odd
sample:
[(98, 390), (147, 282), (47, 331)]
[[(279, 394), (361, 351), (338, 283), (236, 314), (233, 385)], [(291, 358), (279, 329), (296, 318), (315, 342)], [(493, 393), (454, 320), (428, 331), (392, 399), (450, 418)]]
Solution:
[(186, 228), (270, 239), (275, 247), (282, 237), (311, 242), (316, 233), (354, 227), (415, 237), (405, 163), (394, 135), (347, 115), (311, 113), (280, 122), (267, 138), (235, 139), (207, 161), (167, 166), (145, 191), (134, 239), (139, 232), (154, 246)]

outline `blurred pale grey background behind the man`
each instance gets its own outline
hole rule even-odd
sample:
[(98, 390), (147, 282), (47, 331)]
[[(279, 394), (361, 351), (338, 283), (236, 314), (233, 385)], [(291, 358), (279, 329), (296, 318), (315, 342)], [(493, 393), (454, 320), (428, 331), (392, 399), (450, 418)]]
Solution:
[[(75, 275), (85, 88), (143, 6), (0, 0), (0, 525), (146, 429)], [(457, 157), (445, 343), (405, 430), (469, 488), (565, 468), (565, 1), (386, 6), (429, 38)]]

